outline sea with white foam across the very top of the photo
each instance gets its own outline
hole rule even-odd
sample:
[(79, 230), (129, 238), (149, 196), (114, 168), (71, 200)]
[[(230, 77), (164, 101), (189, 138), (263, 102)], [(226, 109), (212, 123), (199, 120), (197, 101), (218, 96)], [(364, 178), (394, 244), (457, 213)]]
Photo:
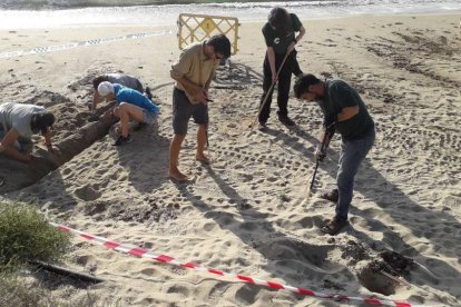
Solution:
[[(148, 3), (153, 1), (143, 1)], [(138, 1), (138, 2), (139, 2)], [(88, 7), (101, 4), (102, 1), (11, 1), (0, 0), (0, 6), (11, 7), (28, 2), (35, 2), (40, 9), (19, 10), (1, 9), (0, 28), (48, 28), (86, 24), (175, 24), (182, 12), (194, 12), (212, 16), (230, 16), (241, 21), (265, 20), (272, 7), (283, 6), (296, 12), (302, 18), (330, 18), (363, 13), (429, 13), (460, 11), (461, 1), (435, 1), (435, 0), (347, 0), (347, 1), (290, 1), (290, 2), (226, 2), (226, 3), (202, 3), (202, 4), (164, 4), (164, 6), (135, 6), (114, 7), (127, 1), (104, 1), (106, 7)], [(39, 2), (41, 3), (39, 6)], [(72, 7), (73, 3), (87, 3), (85, 8), (73, 9), (43, 9), (47, 7)], [(158, 2), (158, 1), (157, 1)], [(166, 2), (166, 1), (164, 1)], [(168, 1), (174, 2), (174, 1)], [(133, 3), (133, 2), (131, 2)], [(73, 7), (75, 7), (73, 6)]]

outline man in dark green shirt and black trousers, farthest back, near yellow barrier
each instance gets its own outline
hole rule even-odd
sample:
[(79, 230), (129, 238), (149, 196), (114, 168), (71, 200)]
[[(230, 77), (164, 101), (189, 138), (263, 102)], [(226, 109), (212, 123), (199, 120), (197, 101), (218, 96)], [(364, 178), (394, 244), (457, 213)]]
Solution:
[[(297, 33), (297, 36), (295, 36)], [(305, 29), (300, 19), (294, 13), (288, 13), (283, 8), (274, 8), (269, 16), (268, 22), (263, 27), (263, 34), (267, 46), (264, 59), (264, 81), (261, 111), (258, 113), (259, 129), (266, 127), (266, 121), (271, 113), (273, 85), (278, 81), (278, 120), (286, 126), (294, 126), (294, 121), (288, 118), (288, 95), (292, 82), (292, 73), (298, 76), (302, 73), (300, 63), (296, 59), (295, 44), (303, 38)], [(283, 65), (279, 75), (277, 71), (282, 62), (288, 55)]]

